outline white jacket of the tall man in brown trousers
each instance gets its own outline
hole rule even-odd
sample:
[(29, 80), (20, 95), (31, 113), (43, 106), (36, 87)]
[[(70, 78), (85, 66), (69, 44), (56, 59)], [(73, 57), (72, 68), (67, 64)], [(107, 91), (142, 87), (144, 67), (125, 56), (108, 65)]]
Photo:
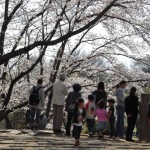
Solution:
[(68, 94), (66, 85), (59, 80), (53, 86), (52, 104), (65, 105), (65, 96)]

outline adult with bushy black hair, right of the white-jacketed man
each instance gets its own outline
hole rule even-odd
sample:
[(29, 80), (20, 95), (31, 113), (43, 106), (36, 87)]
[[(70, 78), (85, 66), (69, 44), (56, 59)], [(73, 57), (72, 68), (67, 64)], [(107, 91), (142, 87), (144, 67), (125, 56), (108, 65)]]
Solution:
[(66, 108), (65, 110), (68, 113), (67, 124), (66, 124), (66, 136), (70, 136), (70, 128), (73, 119), (73, 111), (75, 108), (75, 104), (77, 99), (81, 98), (81, 85), (74, 84), (73, 92), (70, 92), (66, 98)]

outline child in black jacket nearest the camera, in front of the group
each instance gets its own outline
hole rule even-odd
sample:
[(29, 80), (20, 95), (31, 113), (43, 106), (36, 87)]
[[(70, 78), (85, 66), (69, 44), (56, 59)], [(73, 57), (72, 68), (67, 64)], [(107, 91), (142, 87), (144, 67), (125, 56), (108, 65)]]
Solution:
[(73, 112), (73, 132), (75, 137), (75, 146), (80, 145), (79, 139), (84, 118), (85, 118), (84, 100), (80, 98), (77, 100)]

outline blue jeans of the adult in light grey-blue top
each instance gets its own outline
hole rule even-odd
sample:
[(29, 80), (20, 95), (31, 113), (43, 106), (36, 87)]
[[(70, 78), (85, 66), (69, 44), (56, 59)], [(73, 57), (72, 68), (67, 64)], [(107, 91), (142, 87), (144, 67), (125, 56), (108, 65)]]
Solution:
[(124, 136), (124, 106), (117, 106), (117, 123), (116, 130), (119, 137)]

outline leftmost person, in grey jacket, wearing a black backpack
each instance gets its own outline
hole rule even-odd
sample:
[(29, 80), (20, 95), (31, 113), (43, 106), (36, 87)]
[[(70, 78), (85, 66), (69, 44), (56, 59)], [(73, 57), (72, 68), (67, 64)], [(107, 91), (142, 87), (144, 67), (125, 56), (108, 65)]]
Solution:
[(37, 85), (33, 86), (29, 97), (30, 108), (30, 126), (31, 130), (39, 130), (40, 113), (44, 109), (44, 88), (42, 87), (43, 79), (37, 80)]

